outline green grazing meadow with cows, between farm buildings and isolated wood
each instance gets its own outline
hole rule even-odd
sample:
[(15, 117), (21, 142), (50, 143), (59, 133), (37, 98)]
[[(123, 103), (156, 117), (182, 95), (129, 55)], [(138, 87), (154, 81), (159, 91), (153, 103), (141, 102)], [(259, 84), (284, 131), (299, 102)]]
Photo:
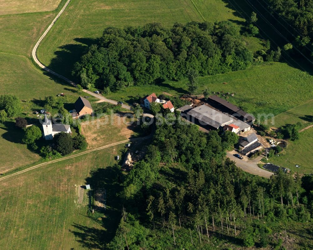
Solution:
[[(160, 86), (133, 86), (105, 96), (131, 104), (153, 92), (187, 94), (186, 82), (182, 80), (169, 81)], [(255, 64), (246, 70), (200, 77), (199, 85), (198, 94), (202, 94), (206, 88), (212, 93), (220, 92), (221, 97), (223, 93), (234, 93), (228, 101), (256, 117), (258, 113), (278, 115), (313, 98), (313, 77), (286, 63)]]

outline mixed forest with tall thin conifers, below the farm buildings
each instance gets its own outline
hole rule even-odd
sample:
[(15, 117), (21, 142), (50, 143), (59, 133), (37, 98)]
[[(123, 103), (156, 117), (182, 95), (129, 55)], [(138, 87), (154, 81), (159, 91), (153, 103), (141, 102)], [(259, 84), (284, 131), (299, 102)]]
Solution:
[(123, 210), (110, 249), (216, 249), (212, 242), (221, 238), (279, 246), (272, 230), (287, 234), (291, 221), (310, 221), (313, 178), (301, 185), (297, 174), (246, 174), (225, 158), (227, 147), (217, 131), (158, 125), (145, 159), (122, 177)]

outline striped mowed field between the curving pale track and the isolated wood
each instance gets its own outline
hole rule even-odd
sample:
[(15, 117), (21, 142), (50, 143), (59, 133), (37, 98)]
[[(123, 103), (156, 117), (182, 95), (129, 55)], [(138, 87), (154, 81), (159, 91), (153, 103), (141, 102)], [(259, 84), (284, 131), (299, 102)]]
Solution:
[(38, 59), (71, 77), (73, 64), (87, 45), (96, 43), (109, 26), (159, 22), (166, 27), (190, 21), (244, 19), (233, 15), (222, 0), (71, 0), (38, 48)]

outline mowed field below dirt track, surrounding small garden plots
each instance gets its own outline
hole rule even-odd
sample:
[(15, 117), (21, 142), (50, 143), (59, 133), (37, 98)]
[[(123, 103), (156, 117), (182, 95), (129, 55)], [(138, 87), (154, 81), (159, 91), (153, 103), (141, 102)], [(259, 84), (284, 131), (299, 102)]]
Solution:
[[(94, 151), (12, 176), (0, 185), (0, 249), (105, 249), (120, 220), (114, 156), (125, 144)], [(84, 190), (77, 204), (81, 185)], [(75, 186), (76, 185), (76, 186)], [(106, 210), (88, 208), (93, 190), (106, 190)]]

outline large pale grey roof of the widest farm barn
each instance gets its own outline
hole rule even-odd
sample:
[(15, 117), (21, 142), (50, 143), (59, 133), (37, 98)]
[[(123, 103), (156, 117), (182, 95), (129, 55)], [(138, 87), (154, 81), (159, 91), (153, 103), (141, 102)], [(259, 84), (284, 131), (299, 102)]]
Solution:
[(218, 129), (221, 125), (225, 125), (225, 123), (231, 123), (233, 121), (233, 118), (218, 112), (207, 105), (201, 105), (197, 108), (189, 110), (187, 114), (216, 129)]

